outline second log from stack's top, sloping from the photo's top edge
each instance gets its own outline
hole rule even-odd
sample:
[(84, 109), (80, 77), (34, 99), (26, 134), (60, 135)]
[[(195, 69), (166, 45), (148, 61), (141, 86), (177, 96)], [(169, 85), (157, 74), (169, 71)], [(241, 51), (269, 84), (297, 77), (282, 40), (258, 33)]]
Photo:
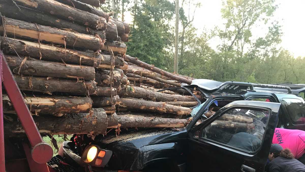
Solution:
[[(107, 13), (101, 11), (101, 10), (98, 10), (96, 8), (91, 7), (90, 5), (87, 5), (87, 3), (85, 3), (85, 2), (82, 2), (82, 1), (87, 1), (87, 0), (80, 0), (80, 1), (77, 1), (77, 0), (56, 0), (56, 1), (61, 2), (61, 3), (66, 4), (66, 5), (70, 5), (71, 7), (74, 7), (74, 8), (83, 10), (83, 11), (87, 11), (87, 12), (95, 14), (97, 16), (101, 16), (101, 17), (106, 19), (106, 22), (108, 22), (109, 15)], [(94, 1), (96, 1), (96, 0), (94, 0)]]

